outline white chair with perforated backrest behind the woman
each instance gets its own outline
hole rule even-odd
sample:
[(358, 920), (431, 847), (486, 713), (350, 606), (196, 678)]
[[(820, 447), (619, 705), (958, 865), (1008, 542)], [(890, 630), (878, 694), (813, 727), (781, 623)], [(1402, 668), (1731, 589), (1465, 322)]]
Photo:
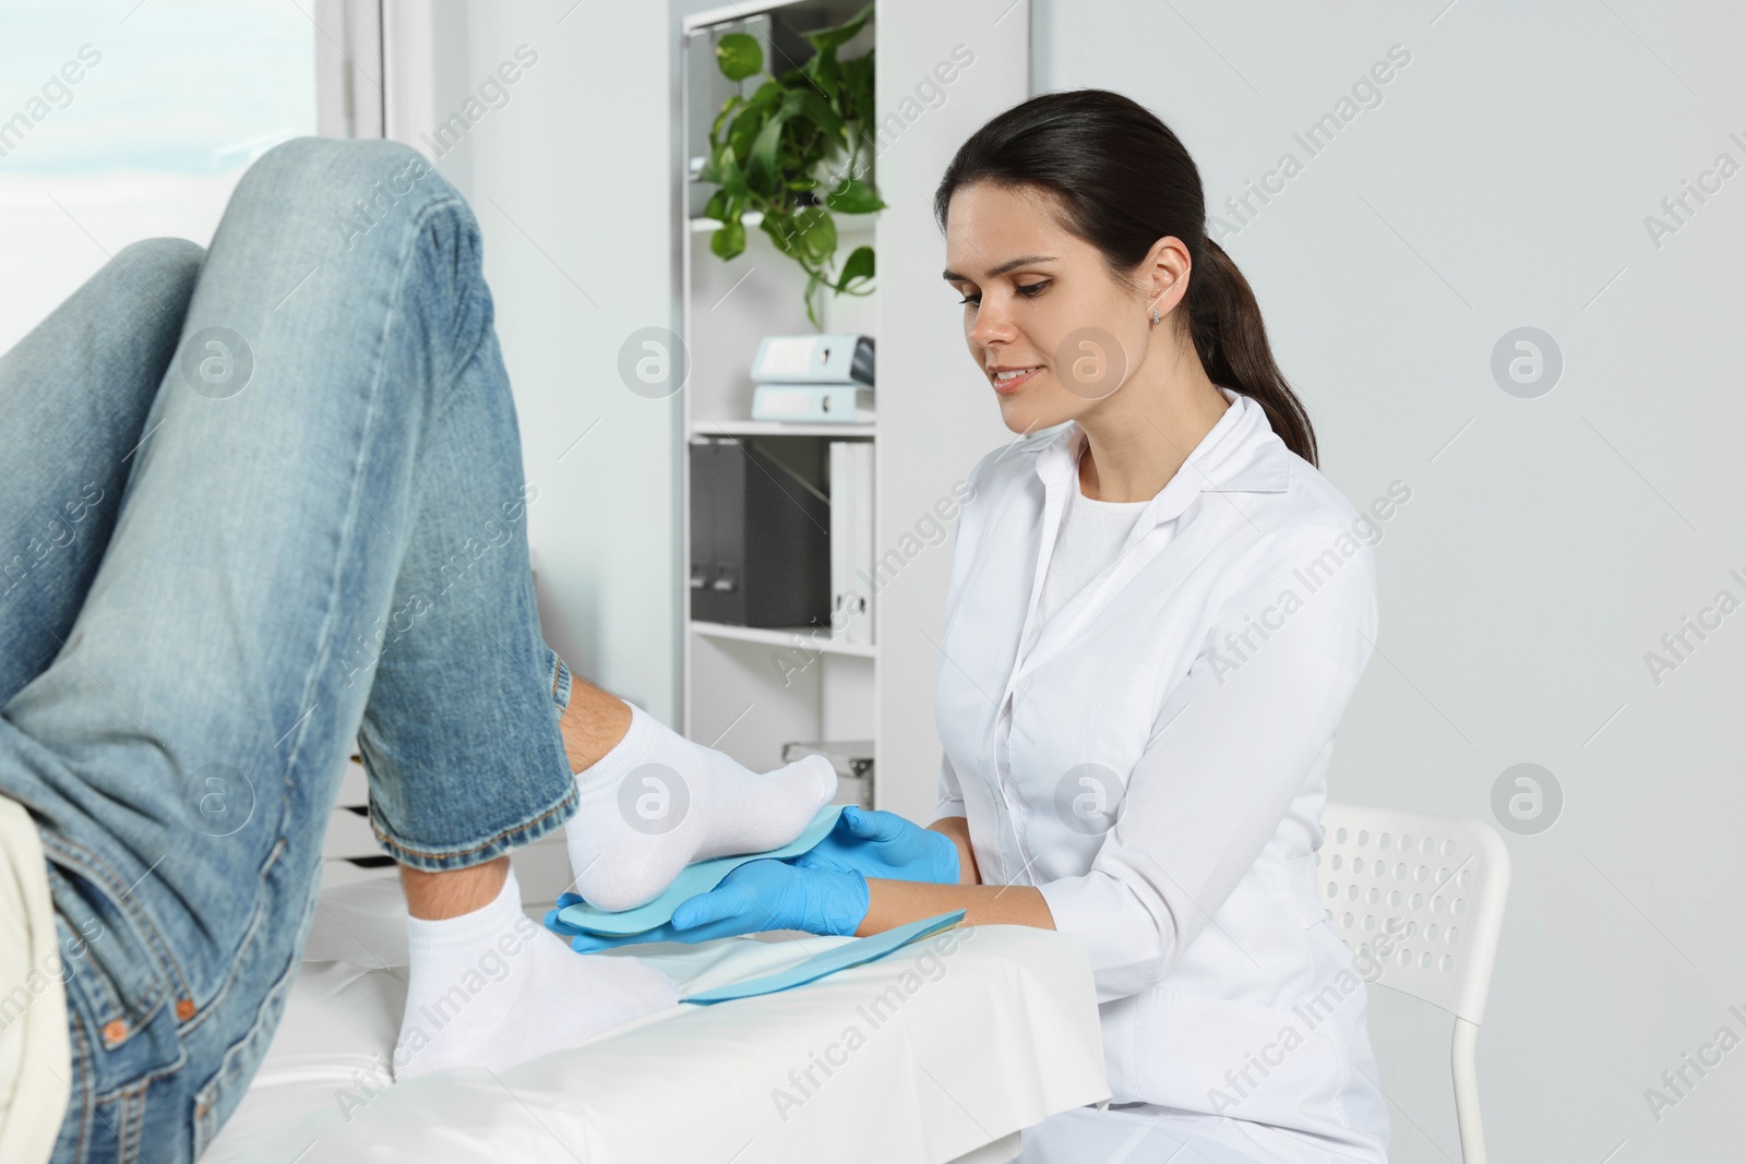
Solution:
[(1474, 1049), (1510, 894), (1510, 853), (1482, 820), (1329, 805), (1318, 887), (1367, 983), (1454, 1016), (1451, 1065), (1463, 1164), (1486, 1164)]

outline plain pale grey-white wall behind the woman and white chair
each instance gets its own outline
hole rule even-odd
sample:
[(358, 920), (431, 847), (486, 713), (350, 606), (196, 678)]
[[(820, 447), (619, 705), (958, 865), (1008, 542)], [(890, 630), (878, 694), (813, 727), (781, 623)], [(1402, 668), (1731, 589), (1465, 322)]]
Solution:
[[(1645, 1089), (1718, 1028), (1746, 1037), (1729, 1010), (1746, 1014), (1746, 614), (1692, 635), (1659, 684), (1645, 653), (1720, 590), (1746, 600), (1729, 572), (1746, 578), (1746, 176), (1659, 246), (1645, 216), (1720, 154), (1746, 164), (1743, 38), (1737, 5), (1692, 0), (1037, 3), (1035, 91), (1145, 103), (1212, 213), (1283, 152), (1304, 164), (1224, 246), (1323, 471), (1360, 506), (1413, 490), (1378, 546), (1381, 639), (1334, 799), (1493, 820), (1524, 761), (1563, 789), (1554, 827), (1505, 832), (1516, 883), (1479, 1044), (1495, 1161), (1741, 1154), (1746, 1049), (1688, 1072), (1659, 1119)], [(1310, 157), (1292, 134), (1390, 45), (1411, 63), (1381, 105)], [(1542, 398), (1489, 370), (1517, 326), (1563, 351)], [(1460, 1159), (1447, 1016), (1372, 993), (1392, 1159)]]

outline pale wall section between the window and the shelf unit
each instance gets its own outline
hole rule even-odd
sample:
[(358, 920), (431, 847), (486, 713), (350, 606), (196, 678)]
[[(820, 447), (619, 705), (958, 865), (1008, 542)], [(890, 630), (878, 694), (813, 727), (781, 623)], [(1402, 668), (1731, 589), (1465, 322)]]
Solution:
[[(578, 674), (677, 717), (677, 398), (620, 380), (637, 330), (674, 328), (665, 5), (431, 5), (440, 122), (536, 54), (438, 168), (478, 215), (515, 384), (540, 616)], [(501, 98), (498, 98), (501, 101)], [(417, 133), (405, 134), (431, 152)]]

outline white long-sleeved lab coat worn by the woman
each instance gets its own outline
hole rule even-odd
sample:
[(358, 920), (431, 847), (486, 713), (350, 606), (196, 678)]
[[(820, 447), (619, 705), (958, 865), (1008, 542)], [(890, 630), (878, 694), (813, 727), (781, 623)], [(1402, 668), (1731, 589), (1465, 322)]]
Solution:
[(1381, 1162), (1364, 979), (1313, 857), (1376, 637), (1374, 525), (1226, 396), (1116, 560), (1042, 627), (1084, 433), (976, 464), (936, 675), (936, 818), (967, 817), (983, 881), (1035, 885), (1084, 942), (1116, 1103), (1243, 1122), (1294, 1148), (1278, 1159)]

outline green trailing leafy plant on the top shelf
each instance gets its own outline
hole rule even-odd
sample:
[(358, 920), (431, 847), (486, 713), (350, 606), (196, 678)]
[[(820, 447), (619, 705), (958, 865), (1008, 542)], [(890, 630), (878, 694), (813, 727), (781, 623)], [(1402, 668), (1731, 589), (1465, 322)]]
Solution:
[[(849, 61), (836, 51), (871, 19), (866, 5), (836, 28), (805, 33), (814, 54), (805, 65), (773, 70), (751, 96), (730, 96), (709, 131), (709, 161), (698, 175), (719, 183), (704, 215), (721, 225), (709, 250), (728, 260), (746, 250), (747, 211), (763, 215), (760, 229), (775, 248), (807, 272), (807, 318), (819, 325), (819, 298), (868, 295), (873, 290), (873, 248), (857, 246), (836, 265), (833, 213), (870, 215), (885, 202), (871, 171), (873, 52)], [(763, 47), (746, 33), (716, 44), (716, 61), (728, 80), (765, 72)]]

